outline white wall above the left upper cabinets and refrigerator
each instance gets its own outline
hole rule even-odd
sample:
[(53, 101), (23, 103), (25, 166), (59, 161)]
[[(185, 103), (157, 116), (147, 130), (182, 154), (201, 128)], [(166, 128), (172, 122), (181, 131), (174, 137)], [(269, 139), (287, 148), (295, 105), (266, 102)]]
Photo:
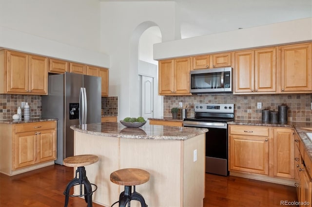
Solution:
[(0, 47), (102, 67), (98, 0), (0, 0)]

